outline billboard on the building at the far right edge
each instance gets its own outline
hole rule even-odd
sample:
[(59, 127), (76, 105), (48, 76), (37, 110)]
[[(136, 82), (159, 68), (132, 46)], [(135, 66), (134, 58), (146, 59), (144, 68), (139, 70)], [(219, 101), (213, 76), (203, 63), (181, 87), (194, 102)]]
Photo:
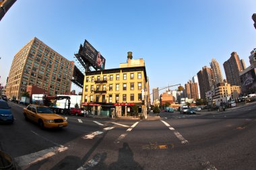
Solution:
[(242, 84), (242, 93), (255, 93), (256, 90), (256, 68), (253, 68), (247, 73), (240, 76)]

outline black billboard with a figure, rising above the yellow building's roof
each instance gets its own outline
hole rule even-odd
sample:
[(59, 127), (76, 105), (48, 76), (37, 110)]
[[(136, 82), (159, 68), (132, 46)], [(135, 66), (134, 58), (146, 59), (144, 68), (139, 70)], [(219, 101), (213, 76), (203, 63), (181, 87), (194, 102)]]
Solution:
[(82, 54), (85, 54), (86, 59), (97, 69), (105, 69), (106, 59), (87, 40), (84, 40)]

